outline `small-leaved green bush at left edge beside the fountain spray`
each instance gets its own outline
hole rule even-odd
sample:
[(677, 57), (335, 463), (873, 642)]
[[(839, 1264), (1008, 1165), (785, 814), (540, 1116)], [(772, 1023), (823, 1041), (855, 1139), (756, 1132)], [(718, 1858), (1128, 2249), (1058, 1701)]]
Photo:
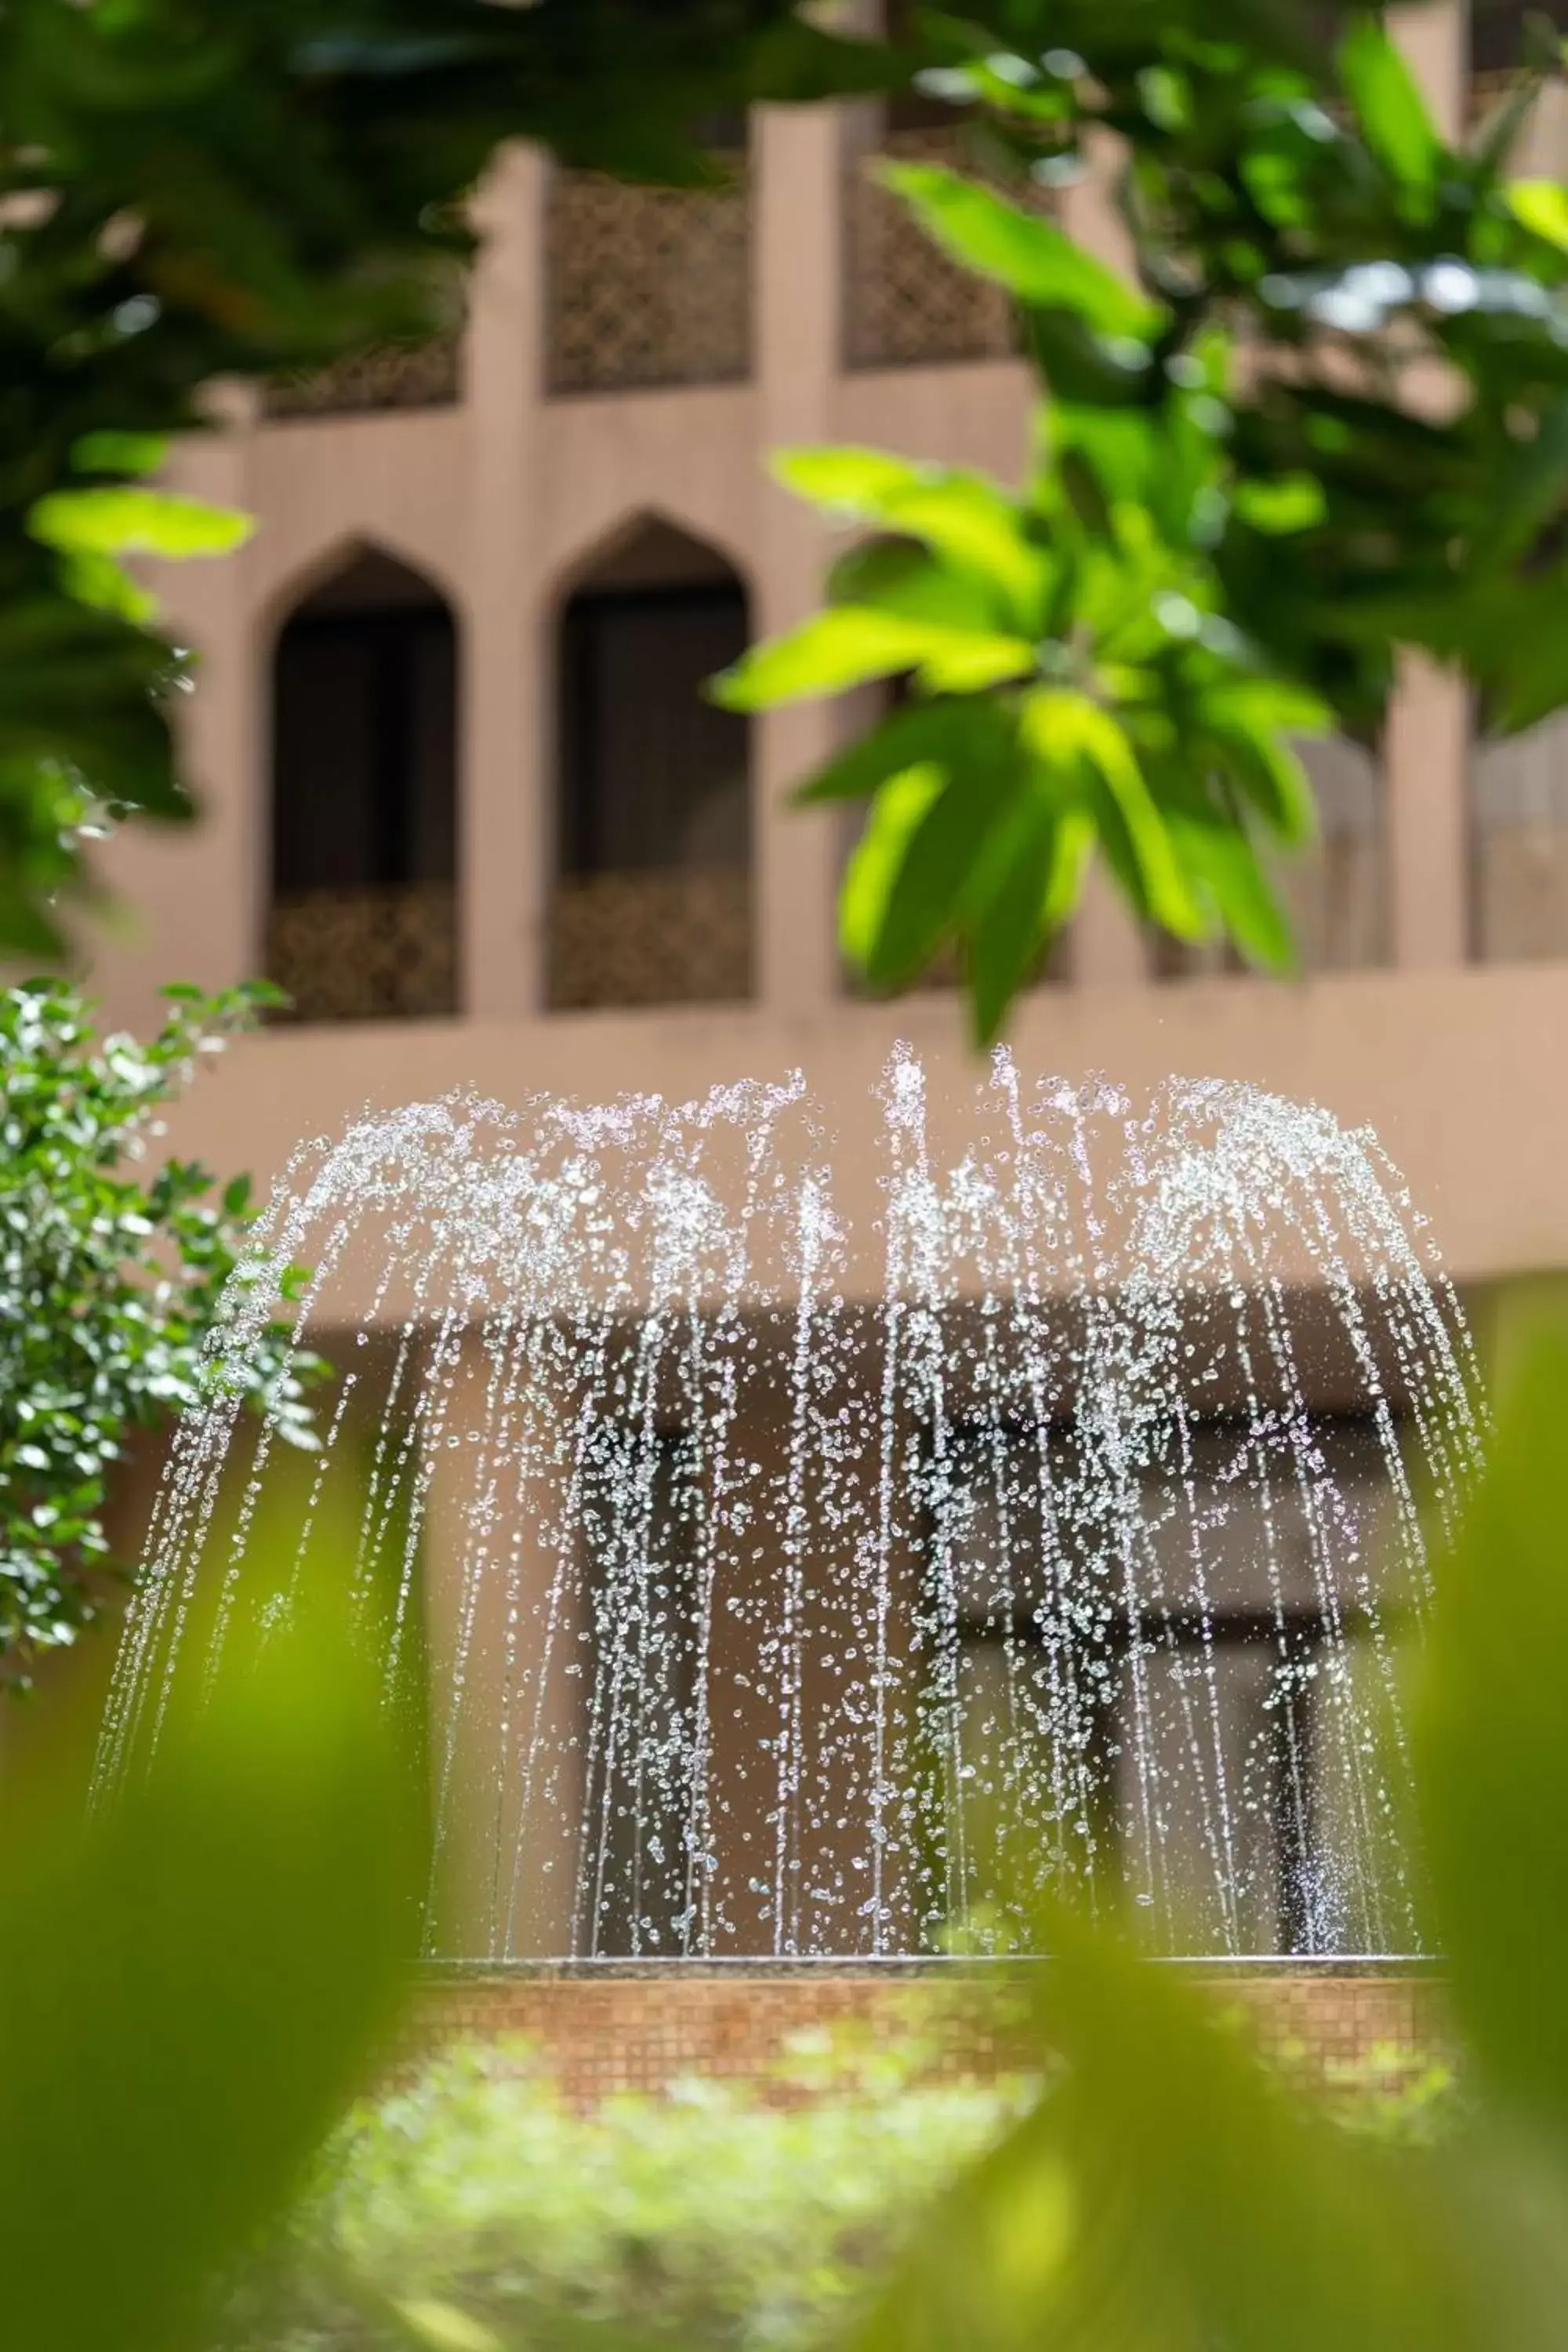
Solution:
[[(0, 995), (0, 1663), (26, 1682), (40, 1651), (92, 1623), (115, 1566), (106, 1486), (132, 1428), (197, 1404), (212, 1331), (252, 1225), (249, 1178), (219, 1200), (188, 1160), (148, 1167), (160, 1110), (200, 1056), (247, 1028), (263, 988), (172, 988), (148, 1042), (92, 1030), (59, 981)], [(296, 1296), (294, 1272), (284, 1294)], [(296, 1446), (324, 1367), (268, 1324), (230, 1378)]]

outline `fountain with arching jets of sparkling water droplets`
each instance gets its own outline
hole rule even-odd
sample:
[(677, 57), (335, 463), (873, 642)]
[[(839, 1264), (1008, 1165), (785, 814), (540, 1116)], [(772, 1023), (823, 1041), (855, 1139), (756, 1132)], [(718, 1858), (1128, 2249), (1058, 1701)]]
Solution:
[[(451, 1096), (296, 1157), (223, 1350), (296, 1261), (343, 1369), (306, 1510), (360, 1482), (393, 1651), (425, 1595), (433, 1955), (987, 1950), (1063, 1882), (1171, 1955), (1418, 1950), (1399, 1646), (1479, 1392), (1368, 1131), (1006, 1054), (938, 1112), (907, 1049), (849, 1138), (799, 1077)], [(110, 1778), (193, 1592), (202, 1644), (287, 1606), (223, 1350)]]

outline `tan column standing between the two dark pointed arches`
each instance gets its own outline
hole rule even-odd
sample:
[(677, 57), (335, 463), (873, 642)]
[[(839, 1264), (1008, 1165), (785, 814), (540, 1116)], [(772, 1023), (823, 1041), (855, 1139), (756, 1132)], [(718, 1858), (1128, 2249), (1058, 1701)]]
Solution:
[(515, 1021), (538, 1004), (548, 913), (545, 642), (534, 532), (543, 212), (543, 155), (510, 148), (477, 205), (484, 254), (465, 353), (473, 506), (458, 870), (463, 1011), (477, 1021)]

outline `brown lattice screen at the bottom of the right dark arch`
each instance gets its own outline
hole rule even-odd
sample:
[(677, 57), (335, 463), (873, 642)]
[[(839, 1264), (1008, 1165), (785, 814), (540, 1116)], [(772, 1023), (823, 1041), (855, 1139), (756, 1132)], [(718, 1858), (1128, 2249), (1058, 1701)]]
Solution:
[(550, 910), (550, 1004), (724, 1004), (752, 993), (752, 884), (724, 868), (571, 875)]

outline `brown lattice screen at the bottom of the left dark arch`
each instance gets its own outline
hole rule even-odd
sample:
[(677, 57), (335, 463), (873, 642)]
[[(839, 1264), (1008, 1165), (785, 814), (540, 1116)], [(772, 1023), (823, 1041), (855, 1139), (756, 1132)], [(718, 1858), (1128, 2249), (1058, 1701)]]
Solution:
[(287, 1021), (440, 1021), (458, 1009), (451, 882), (310, 889), (277, 898), (266, 969)]

